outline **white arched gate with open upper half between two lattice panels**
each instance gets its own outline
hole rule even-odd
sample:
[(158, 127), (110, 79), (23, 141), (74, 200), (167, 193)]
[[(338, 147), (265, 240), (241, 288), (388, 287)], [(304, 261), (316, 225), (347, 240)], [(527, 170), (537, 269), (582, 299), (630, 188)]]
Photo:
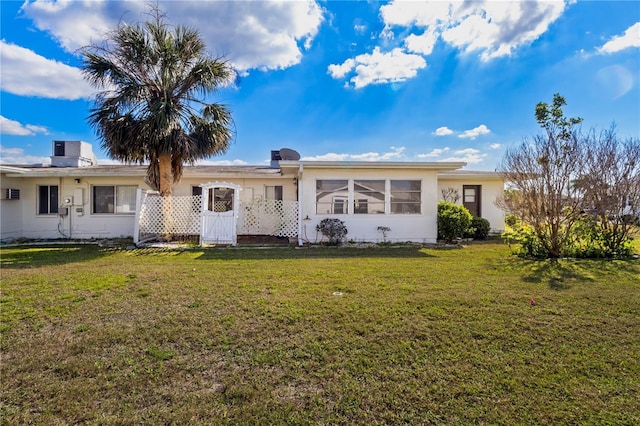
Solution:
[(237, 186), (231, 184), (203, 186), (200, 231), (203, 244), (236, 244), (237, 206)]

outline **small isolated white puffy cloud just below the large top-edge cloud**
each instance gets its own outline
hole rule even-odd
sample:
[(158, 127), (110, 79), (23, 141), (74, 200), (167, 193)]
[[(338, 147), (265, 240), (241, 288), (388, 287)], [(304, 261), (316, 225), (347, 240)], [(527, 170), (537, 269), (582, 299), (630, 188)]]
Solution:
[(355, 72), (350, 82), (356, 89), (369, 84), (398, 83), (413, 78), (427, 62), (419, 55), (407, 54), (400, 48), (381, 52), (376, 47), (371, 54), (365, 53), (347, 59), (340, 65), (329, 65), (328, 73), (333, 78), (343, 78)]

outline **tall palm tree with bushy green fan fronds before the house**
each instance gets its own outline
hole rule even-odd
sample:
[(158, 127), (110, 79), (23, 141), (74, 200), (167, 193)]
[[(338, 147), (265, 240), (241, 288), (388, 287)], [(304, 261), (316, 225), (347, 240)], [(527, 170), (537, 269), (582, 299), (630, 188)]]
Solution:
[(199, 96), (229, 84), (235, 72), (205, 51), (192, 28), (171, 28), (157, 9), (135, 26), (120, 24), (104, 45), (83, 51), (83, 73), (101, 90), (88, 117), (111, 158), (148, 163), (147, 184), (162, 196), (183, 164), (220, 154), (233, 140), (227, 106)]

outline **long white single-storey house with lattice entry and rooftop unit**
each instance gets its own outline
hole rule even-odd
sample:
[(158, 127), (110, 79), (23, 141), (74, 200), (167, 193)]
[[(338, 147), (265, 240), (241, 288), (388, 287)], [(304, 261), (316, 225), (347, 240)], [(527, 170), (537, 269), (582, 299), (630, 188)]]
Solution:
[(282, 149), (269, 165), (187, 166), (162, 199), (145, 183), (146, 166), (97, 165), (86, 142), (53, 145), (51, 165), (0, 166), (2, 241), (168, 234), (236, 244), (238, 236), (271, 235), (304, 244), (322, 240), (322, 219), (337, 218), (350, 240), (433, 243), (448, 188), (492, 232), (504, 227), (493, 204), (501, 178), (459, 170), (461, 162), (305, 161)]

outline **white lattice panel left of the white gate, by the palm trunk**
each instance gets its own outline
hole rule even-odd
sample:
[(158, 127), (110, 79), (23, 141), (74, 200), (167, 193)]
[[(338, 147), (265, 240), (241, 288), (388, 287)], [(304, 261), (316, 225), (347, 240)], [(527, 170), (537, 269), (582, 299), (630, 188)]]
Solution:
[(141, 234), (200, 234), (202, 196), (161, 197), (146, 194), (140, 206)]

